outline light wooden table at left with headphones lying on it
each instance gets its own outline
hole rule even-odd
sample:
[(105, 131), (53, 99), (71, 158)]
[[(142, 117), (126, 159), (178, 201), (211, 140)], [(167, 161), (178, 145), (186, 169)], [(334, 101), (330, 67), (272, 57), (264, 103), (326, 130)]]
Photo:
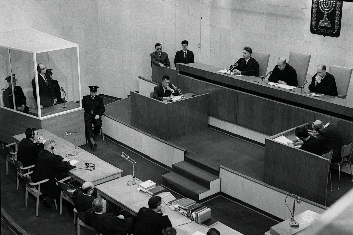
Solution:
[[(39, 135), (43, 135), (44, 139), (53, 139), (55, 141), (55, 154), (64, 158), (67, 154), (74, 151), (74, 144), (66, 141), (65, 139), (62, 139), (44, 129), (38, 130), (38, 133)], [(13, 137), (15, 140), (21, 141), (21, 139), (25, 138), (25, 134), (15, 135)], [(76, 156), (70, 156), (70, 159), (78, 160), (79, 162), (75, 164), (76, 168), (68, 171), (68, 175), (80, 183), (91, 181), (93, 184), (98, 185), (121, 177), (123, 170), (114, 167), (100, 158), (97, 158), (97, 156), (83, 150), (82, 148), (77, 148), (76, 151), (78, 154)], [(95, 164), (95, 170), (89, 171), (81, 168), (85, 167), (85, 163)]]

